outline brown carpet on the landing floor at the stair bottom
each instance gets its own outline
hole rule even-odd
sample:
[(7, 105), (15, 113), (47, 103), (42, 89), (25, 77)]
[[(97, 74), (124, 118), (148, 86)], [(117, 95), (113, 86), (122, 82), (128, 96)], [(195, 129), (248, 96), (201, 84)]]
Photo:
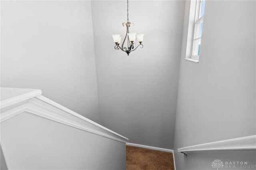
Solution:
[(126, 170), (174, 170), (170, 152), (126, 146)]

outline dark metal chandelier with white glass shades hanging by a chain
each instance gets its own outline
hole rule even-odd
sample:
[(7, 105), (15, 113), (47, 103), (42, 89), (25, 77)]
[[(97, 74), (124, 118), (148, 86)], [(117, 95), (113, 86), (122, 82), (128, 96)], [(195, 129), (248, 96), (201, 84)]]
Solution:
[[(121, 35), (120, 34), (112, 35), (114, 43), (116, 43), (115, 49), (121, 49), (122, 51), (126, 52), (127, 55), (129, 55), (130, 52), (134, 51), (139, 46), (140, 46), (140, 48), (143, 48), (142, 41), (143, 41), (143, 36), (144, 36), (144, 34), (129, 33), (129, 27), (131, 25), (134, 26), (134, 24), (129, 22), (128, 7), (129, 6), (128, 6), (128, 0), (127, 0), (127, 21), (123, 22), (123, 26), (126, 26), (126, 35), (124, 37), (121, 47), (119, 46), (120, 42), (121, 42), (121, 38), (122, 38)], [(140, 43), (137, 47), (134, 43), (136, 37), (137, 37), (138, 42)], [(124, 47), (124, 42), (126, 41), (126, 39), (127, 39), (127, 47)]]

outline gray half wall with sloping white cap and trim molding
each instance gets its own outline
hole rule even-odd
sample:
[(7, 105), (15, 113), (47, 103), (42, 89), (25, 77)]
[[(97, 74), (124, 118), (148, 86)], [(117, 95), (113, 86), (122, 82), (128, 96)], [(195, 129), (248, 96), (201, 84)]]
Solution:
[(1, 169), (126, 168), (124, 136), (42, 96), (38, 89), (0, 90)]

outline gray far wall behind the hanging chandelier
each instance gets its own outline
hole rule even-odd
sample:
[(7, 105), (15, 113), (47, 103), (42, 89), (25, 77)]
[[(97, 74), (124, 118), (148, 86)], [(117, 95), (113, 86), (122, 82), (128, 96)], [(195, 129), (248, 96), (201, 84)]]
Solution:
[(172, 148), (185, 1), (130, 1), (130, 32), (144, 48), (114, 49), (126, 1), (92, 1), (100, 121), (129, 142)]

